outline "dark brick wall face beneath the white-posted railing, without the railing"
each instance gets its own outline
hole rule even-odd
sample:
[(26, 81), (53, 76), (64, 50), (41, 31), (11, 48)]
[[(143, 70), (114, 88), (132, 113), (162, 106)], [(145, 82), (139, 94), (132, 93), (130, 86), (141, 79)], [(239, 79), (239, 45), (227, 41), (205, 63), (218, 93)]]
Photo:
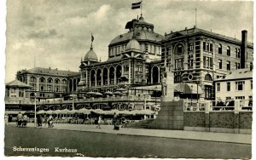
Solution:
[(251, 134), (253, 111), (184, 111), (184, 130)]

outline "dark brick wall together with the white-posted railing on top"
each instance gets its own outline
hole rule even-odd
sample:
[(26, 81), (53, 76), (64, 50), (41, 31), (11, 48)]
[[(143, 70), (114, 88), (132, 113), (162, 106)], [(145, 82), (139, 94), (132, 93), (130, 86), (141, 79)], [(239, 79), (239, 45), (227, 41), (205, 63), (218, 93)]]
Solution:
[(253, 106), (250, 100), (184, 101), (184, 130), (252, 133)]

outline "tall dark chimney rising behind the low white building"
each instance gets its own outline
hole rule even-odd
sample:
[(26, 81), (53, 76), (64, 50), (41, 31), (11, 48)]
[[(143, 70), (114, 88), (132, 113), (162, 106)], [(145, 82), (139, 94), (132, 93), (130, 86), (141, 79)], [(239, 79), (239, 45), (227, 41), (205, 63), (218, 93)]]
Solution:
[(241, 31), (241, 69), (246, 67), (247, 31)]

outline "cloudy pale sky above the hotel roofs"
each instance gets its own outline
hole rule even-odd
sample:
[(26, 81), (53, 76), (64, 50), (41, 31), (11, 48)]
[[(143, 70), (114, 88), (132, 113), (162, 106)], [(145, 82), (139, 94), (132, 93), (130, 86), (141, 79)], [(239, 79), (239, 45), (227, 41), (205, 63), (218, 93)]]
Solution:
[[(90, 49), (102, 61), (108, 58), (108, 44), (125, 33), (127, 21), (137, 18), (140, 9), (131, 9), (138, 0), (8, 0), (6, 78), (34, 66), (79, 71), (81, 58)], [(183, 30), (195, 26), (241, 39), (241, 30), (253, 34), (252, 2), (174, 2), (143, 0), (143, 17), (154, 31)]]

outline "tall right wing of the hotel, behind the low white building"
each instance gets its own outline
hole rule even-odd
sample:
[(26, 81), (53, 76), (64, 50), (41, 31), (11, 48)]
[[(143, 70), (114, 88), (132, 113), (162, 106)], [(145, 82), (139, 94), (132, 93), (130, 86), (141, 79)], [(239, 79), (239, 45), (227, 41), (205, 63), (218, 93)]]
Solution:
[(200, 91), (189, 96), (213, 100), (215, 79), (253, 65), (253, 44), (247, 43), (247, 31), (241, 31), (240, 41), (194, 26), (166, 34), (161, 45), (163, 71), (174, 72), (175, 90), (184, 98), (189, 97), (180, 86), (189, 84), (190, 90)]

